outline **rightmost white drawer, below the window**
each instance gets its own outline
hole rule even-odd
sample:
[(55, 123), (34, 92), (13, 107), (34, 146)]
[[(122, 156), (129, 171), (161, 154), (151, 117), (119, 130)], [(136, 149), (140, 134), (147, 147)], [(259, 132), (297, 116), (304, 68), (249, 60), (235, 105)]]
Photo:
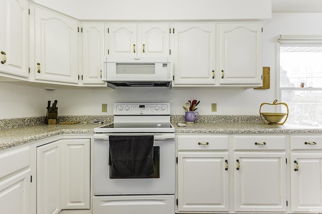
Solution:
[(291, 136), (291, 150), (293, 149), (322, 149), (322, 136)]

